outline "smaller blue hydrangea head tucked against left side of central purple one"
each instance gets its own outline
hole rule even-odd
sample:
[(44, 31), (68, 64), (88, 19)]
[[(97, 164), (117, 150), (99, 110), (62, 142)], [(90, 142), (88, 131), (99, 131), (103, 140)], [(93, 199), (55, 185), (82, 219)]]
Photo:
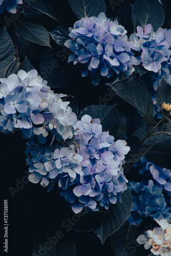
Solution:
[(81, 174), (79, 161), (82, 160), (82, 157), (75, 153), (74, 147), (60, 145), (44, 147), (35, 142), (34, 138), (27, 142), (27, 146), (25, 154), (26, 162), (30, 165), (29, 180), (31, 182), (41, 181), (40, 184), (46, 187), (59, 174), (67, 173), (71, 177), (76, 177), (76, 173), (79, 172)]

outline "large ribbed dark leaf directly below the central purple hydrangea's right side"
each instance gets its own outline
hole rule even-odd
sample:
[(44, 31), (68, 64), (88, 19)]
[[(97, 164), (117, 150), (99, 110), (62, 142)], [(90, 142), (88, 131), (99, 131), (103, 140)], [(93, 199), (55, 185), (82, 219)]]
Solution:
[(118, 230), (130, 216), (132, 196), (129, 188), (121, 194), (121, 200), (122, 203), (117, 201), (116, 204), (110, 204), (109, 212), (104, 212), (104, 219), (95, 230), (102, 244), (105, 239)]

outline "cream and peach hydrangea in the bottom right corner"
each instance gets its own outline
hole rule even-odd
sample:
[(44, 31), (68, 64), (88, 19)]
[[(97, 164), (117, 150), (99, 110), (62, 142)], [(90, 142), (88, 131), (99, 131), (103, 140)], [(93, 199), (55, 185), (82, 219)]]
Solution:
[(160, 227), (147, 230), (137, 238), (139, 244), (144, 244), (147, 250), (151, 248), (153, 255), (171, 255), (171, 224), (166, 219), (156, 220)]

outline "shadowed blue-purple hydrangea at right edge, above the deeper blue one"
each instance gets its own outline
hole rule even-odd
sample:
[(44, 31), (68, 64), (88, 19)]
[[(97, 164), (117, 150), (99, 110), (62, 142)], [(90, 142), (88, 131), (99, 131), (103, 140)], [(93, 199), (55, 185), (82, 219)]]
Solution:
[(155, 185), (165, 190), (168, 197), (171, 196), (171, 170), (155, 165), (146, 157), (142, 157), (135, 167), (139, 168), (140, 174), (145, 174), (148, 180), (152, 179)]

